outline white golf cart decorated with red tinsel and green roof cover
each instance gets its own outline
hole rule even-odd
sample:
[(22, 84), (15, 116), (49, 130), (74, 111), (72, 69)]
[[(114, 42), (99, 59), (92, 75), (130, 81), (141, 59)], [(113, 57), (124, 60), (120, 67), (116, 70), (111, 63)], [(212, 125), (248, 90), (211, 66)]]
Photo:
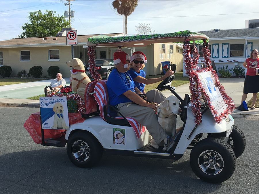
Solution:
[[(197, 67), (197, 48), (199, 41), (204, 44), (204, 68)], [(190, 43), (193, 41), (193, 43)], [(137, 47), (152, 43), (184, 42), (184, 62), (189, 75), (191, 94), (184, 99), (177, 95), (171, 86), (174, 75), (169, 76), (159, 84), (160, 91), (169, 89), (181, 101), (180, 118), (182, 129), (174, 136), (174, 145), (168, 151), (163, 147), (155, 149), (150, 145), (151, 136), (144, 126), (134, 119), (125, 118), (117, 110), (117, 118), (107, 113), (108, 94), (106, 80), (99, 80), (94, 72), (94, 59), (89, 59), (94, 91), (87, 95), (94, 96), (98, 102), (96, 112), (82, 114), (85, 120), (70, 125), (65, 135), (56, 139), (60, 143), (51, 143), (44, 139), (42, 130), (42, 145), (61, 146), (67, 149), (69, 159), (81, 168), (94, 166), (102, 153), (155, 157), (178, 160), (186, 149), (192, 149), (190, 164), (193, 172), (202, 180), (210, 183), (220, 183), (233, 174), (236, 158), (245, 149), (243, 132), (234, 125), (230, 113), (233, 101), (224, 93), (218, 77), (210, 66), (207, 49), (208, 37), (204, 34), (182, 31), (170, 34), (154, 34), (145, 36), (107, 37), (88, 39), (90, 51), (96, 46)], [(193, 58), (191, 58), (191, 56)], [(199, 58), (199, 57), (198, 57)], [(215, 77), (216, 76), (216, 77)], [(86, 102), (87, 103), (87, 102)], [(124, 142), (115, 142), (115, 131), (123, 134)]]

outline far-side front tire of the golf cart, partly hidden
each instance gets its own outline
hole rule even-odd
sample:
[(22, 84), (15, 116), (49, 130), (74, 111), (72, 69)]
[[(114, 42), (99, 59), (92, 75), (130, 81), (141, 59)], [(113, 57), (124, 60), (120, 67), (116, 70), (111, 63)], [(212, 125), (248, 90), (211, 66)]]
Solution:
[(232, 132), (229, 135), (229, 139), (227, 142), (235, 152), (236, 158), (242, 155), (245, 151), (245, 135), (243, 132), (237, 127), (233, 126)]

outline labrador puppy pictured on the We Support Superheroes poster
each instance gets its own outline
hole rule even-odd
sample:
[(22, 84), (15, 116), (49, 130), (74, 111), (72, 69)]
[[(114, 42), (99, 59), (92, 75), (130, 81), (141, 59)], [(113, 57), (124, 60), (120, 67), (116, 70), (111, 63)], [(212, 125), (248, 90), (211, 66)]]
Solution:
[(65, 122), (64, 116), (63, 116), (63, 105), (61, 103), (57, 102), (53, 106), (53, 111), (55, 112), (55, 114), (54, 114), (53, 126), (51, 128), (52, 129), (68, 129), (69, 127), (66, 126), (66, 122)]

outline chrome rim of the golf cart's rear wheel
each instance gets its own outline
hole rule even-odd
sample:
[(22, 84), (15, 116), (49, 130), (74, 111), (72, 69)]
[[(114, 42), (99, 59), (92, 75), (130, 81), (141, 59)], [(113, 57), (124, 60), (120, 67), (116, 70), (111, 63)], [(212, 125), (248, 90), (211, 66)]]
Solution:
[(82, 140), (77, 140), (72, 145), (72, 154), (80, 162), (86, 161), (90, 156), (90, 148)]

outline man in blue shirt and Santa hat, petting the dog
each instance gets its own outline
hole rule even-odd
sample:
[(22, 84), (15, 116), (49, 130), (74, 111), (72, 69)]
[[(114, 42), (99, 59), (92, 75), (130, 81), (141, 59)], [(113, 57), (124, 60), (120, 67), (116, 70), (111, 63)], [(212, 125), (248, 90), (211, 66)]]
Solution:
[[(129, 70), (129, 55), (124, 52), (114, 53), (114, 66), (107, 80), (107, 90), (110, 105), (118, 105), (118, 110), (125, 117), (132, 117), (143, 126), (158, 144), (164, 141), (167, 146), (167, 134), (158, 122), (156, 112), (157, 103), (149, 103), (138, 96), (141, 92), (134, 84), (131, 76), (126, 72)], [(170, 138), (169, 138), (170, 139)]]

